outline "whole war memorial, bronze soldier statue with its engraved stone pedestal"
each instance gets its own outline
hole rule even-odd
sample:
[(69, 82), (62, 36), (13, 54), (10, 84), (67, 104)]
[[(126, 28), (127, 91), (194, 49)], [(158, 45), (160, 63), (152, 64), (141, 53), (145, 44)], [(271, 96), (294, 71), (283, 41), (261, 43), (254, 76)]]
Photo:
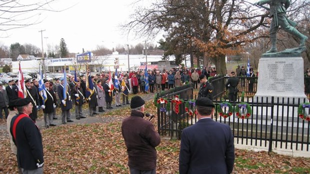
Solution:
[[(306, 50), (307, 36), (300, 33), (295, 28), (296, 23), (286, 17), (290, 0), (260, 0), (254, 4), (268, 9), (269, 16), (272, 18), (269, 28), (271, 48), (259, 59), (255, 98), (258, 98), (258, 101), (270, 102), (271, 96), (274, 96), (275, 99), (279, 97), (279, 102), (284, 99), (283, 103), (292, 103), (293, 98), (294, 103), (297, 103), (298, 99), (303, 102), (307, 97), (303, 87), (301, 53)], [(265, 7), (264, 4), (269, 4), (270, 8)], [(298, 47), (277, 51), (276, 32), (279, 26), (300, 39)]]

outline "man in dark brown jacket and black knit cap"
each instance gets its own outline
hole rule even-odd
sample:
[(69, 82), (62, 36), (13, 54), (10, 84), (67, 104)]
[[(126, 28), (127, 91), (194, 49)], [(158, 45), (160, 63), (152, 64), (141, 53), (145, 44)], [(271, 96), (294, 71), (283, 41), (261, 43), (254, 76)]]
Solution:
[(143, 119), (145, 101), (134, 96), (130, 101), (131, 114), (121, 124), (121, 134), (125, 140), (128, 153), (130, 174), (156, 173), (156, 149), (160, 136), (153, 124)]

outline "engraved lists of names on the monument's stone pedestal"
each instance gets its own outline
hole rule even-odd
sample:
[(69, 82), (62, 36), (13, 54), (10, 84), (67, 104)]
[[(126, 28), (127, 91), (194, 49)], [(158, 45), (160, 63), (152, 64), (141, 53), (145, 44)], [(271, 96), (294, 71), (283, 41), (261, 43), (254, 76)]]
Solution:
[(286, 61), (275, 61), (267, 65), (268, 67), (268, 85), (267, 89), (273, 92), (293, 91), (292, 84), (285, 81), (291, 81), (293, 78), (293, 64)]

